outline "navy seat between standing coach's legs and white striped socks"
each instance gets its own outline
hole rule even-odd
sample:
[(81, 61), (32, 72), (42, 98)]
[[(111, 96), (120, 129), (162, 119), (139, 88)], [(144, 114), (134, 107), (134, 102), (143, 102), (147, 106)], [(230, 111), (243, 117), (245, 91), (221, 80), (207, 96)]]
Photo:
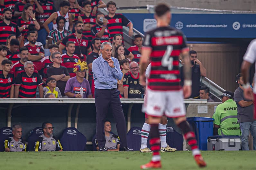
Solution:
[[(122, 141), (121, 141), (122, 142)], [(140, 150), (141, 148), (141, 128), (132, 127), (127, 133), (127, 146), (133, 150)]]

